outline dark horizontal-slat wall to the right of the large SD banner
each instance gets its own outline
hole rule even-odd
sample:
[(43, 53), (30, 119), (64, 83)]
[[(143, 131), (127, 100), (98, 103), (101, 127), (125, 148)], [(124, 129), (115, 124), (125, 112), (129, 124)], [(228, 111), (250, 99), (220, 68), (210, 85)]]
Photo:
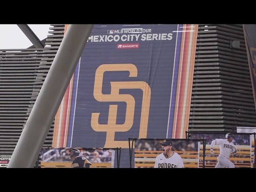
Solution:
[[(230, 41), (240, 48), (230, 48)], [(236, 131), (255, 126), (256, 112), (242, 25), (200, 24), (190, 108), (190, 131)]]

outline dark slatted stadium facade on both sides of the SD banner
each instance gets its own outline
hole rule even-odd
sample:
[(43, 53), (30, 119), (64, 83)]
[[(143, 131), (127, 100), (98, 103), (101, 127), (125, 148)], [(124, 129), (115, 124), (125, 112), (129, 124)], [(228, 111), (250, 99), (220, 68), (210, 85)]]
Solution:
[[(0, 50), (1, 155), (14, 151), (64, 29), (64, 24), (52, 24), (44, 48)], [(52, 147), (54, 124), (43, 147)], [(187, 130), (236, 132), (236, 127), (256, 127), (243, 27), (199, 24)]]

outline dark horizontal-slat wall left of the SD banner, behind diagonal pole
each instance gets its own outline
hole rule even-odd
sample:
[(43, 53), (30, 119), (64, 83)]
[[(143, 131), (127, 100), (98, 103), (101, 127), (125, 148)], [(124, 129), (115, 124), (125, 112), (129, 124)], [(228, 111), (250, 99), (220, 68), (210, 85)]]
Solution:
[[(64, 25), (50, 30), (43, 49), (0, 50), (0, 154), (13, 153), (60, 46)], [(44, 146), (52, 146), (53, 126)]]

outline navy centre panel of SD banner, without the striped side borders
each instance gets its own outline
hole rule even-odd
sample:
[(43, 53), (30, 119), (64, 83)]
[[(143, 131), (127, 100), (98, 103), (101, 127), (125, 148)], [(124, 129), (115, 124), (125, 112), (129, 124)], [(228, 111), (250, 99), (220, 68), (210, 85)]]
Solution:
[(177, 25), (143, 25), (134, 34), (128, 27), (135, 28), (95, 26), (91, 33), (71, 146), (128, 148), (128, 137), (166, 136)]

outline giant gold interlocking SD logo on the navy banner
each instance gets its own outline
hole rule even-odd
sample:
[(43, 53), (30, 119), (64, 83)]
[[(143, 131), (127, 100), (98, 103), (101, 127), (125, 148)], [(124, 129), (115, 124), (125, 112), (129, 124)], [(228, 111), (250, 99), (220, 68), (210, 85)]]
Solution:
[[(104, 72), (106, 71), (129, 71), (129, 77), (137, 77), (138, 70), (134, 64), (103, 64), (99, 66), (95, 73), (94, 98), (100, 102), (126, 102), (126, 116), (124, 124), (116, 124), (117, 106), (110, 105), (108, 113), (108, 124), (99, 124), (100, 113), (92, 113), (91, 126), (98, 132), (107, 132), (104, 148), (129, 148), (128, 141), (115, 141), (115, 132), (126, 132), (132, 128), (134, 120), (135, 100), (132, 95), (119, 94), (120, 89), (141, 89), (142, 109), (140, 116), (140, 130), (138, 138), (146, 138), (148, 130), (148, 115), (150, 107), (151, 89), (143, 81), (134, 82), (110, 82), (110, 94), (102, 94), (102, 83)], [(128, 138), (127, 138), (128, 140)]]

